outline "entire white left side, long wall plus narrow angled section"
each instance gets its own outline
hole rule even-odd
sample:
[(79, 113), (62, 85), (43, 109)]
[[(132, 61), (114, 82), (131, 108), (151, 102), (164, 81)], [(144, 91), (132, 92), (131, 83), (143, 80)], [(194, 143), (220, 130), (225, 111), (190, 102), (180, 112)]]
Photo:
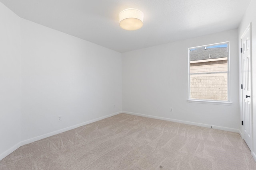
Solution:
[(121, 53), (19, 18), (2, 3), (0, 23), (0, 160), (121, 113)]

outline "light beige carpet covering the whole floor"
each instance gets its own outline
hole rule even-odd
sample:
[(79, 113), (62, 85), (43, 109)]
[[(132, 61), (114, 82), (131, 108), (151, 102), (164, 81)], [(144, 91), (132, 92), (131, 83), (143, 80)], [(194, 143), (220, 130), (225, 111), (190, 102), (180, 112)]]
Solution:
[(256, 170), (238, 133), (119, 114), (24, 145), (1, 170)]

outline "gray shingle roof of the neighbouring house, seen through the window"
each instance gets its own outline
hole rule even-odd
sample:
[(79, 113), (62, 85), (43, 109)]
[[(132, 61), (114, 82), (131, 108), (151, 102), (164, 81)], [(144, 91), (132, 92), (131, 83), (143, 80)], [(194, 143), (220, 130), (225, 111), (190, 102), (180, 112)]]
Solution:
[[(209, 58), (210, 55), (210, 58)], [(206, 59), (218, 59), (228, 57), (227, 47), (218, 48), (198, 48), (190, 50), (190, 61), (206, 60)]]

